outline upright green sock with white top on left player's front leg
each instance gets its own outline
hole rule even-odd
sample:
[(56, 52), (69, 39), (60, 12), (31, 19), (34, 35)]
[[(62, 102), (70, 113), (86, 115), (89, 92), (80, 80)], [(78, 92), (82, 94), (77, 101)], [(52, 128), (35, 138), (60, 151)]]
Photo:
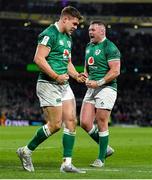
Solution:
[(63, 132), (63, 157), (72, 157), (72, 150), (75, 141), (75, 132), (70, 132), (64, 128)]

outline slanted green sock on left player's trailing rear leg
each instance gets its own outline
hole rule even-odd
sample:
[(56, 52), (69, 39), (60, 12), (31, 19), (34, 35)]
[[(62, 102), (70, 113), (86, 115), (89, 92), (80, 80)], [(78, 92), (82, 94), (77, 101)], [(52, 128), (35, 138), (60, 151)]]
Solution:
[(50, 131), (47, 127), (47, 125), (44, 125), (42, 127), (40, 127), (35, 136), (32, 138), (32, 140), (28, 143), (27, 147), (34, 151), (35, 148), (41, 144), (44, 140), (46, 140), (49, 136), (50, 136)]

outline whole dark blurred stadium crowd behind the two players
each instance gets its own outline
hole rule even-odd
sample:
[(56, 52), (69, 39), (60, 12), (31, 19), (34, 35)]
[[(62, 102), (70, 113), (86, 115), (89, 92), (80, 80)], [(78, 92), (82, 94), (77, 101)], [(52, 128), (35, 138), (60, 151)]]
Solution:
[[(19, 6), (15, 6), (8, 0), (0, 0), (0, 10), (60, 13), (67, 1), (48, 3), (48, 1), (24, 0)], [(18, 2), (18, 1), (15, 1)], [(152, 15), (150, 6), (136, 4), (136, 11), (128, 11), (126, 4), (79, 4), (72, 2), (82, 14), (89, 15)], [(103, 8), (104, 7), (104, 8)], [(51, 11), (50, 11), (51, 9)], [(134, 12), (132, 14), (132, 12)], [(27, 72), (24, 76), (21, 71), (29, 63), (33, 63), (33, 57), (37, 45), (38, 34), (45, 26), (23, 26), (20, 22), (0, 22), (0, 119), (16, 120), (43, 120), (39, 102), (35, 93), (37, 73)], [(122, 67), (118, 79), (118, 99), (112, 112), (112, 123), (152, 125), (152, 33), (144, 30), (131, 30), (123, 26), (107, 28), (107, 37), (113, 41), (121, 51)], [(89, 42), (88, 24), (80, 26), (72, 36), (73, 49), (72, 61), (74, 65), (84, 65), (85, 47)], [(31, 78), (32, 77), (32, 78)], [(83, 96), (86, 91), (84, 84), (78, 84), (70, 79), (71, 87), (77, 100), (77, 115)]]

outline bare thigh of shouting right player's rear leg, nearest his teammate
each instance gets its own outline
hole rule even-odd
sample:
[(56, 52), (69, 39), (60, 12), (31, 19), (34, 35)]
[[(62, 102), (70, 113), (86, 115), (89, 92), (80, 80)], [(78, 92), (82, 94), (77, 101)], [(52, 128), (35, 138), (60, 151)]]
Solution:
[(89, 102), (83, 102), (80, 113), (81, 126), (89, 131), (93, 127), (95, 120), (95, 106)]

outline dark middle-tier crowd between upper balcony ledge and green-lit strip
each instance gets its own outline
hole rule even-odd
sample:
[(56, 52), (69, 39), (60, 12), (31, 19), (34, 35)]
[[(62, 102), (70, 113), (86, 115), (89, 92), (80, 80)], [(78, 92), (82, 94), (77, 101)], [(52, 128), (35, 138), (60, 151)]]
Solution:
[[(0, 68), (23, 67), (32, 63), (37, 45), (37, 36), (44, 27), (8, 26), (1, 23), (0, 28)], [(107, 29), (107, 37), (122, 52), (123, 68), (129, 72), (151, 72), (152, 34), (144, 31), (131, 34), (122, 28)], [(26, 37), (26, 38), (25, 38)], [(72, 60), (75, 65), (84, 64), (85, 47), (89, 42), (88, 26), (79, 28), (73, 34)]]

